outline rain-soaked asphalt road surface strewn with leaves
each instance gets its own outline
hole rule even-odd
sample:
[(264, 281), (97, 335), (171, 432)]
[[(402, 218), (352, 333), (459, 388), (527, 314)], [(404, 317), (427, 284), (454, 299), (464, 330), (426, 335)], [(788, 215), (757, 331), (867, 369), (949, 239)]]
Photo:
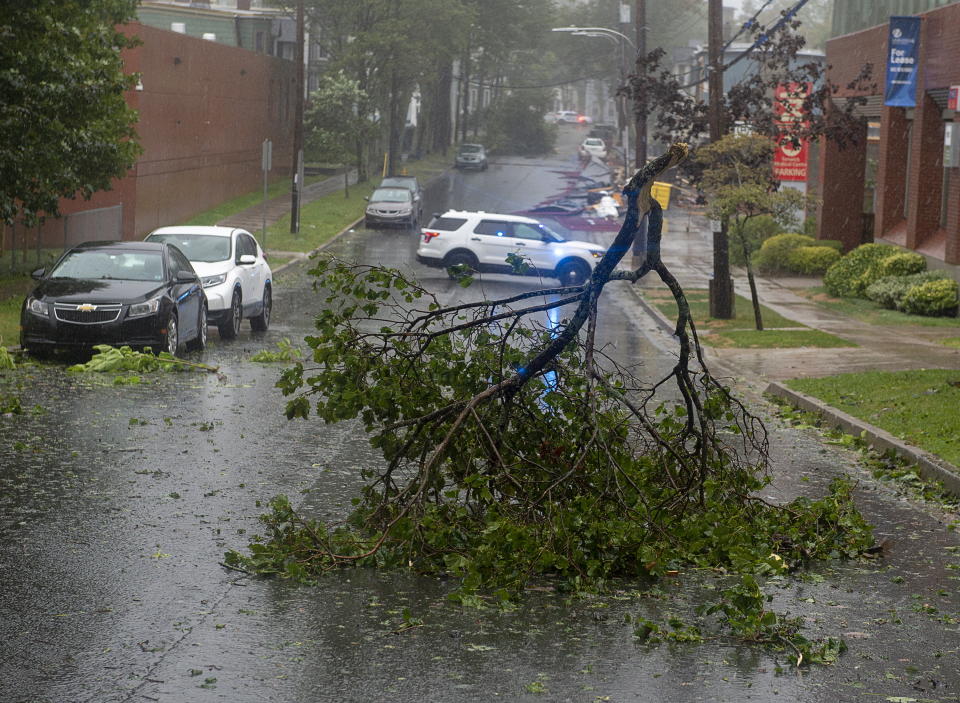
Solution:
[[(427, 209), (529, 208), (563, 190), (576, 141), (571, 128), (551, 161), (451, 174), (428, 189)], [(332, 251), (411, 267), (450, 300), (479, 294), (419, 267), (415, 246), (411, 233), (357, 231)], [(482, 282), (491, 297), (534, 285)], [(730, 642), (637, 642), (626, 616), (686, 617), (711, 583), (697, 574), (573, 603), (532, 592), (499, 613), (452, 606), (450, 583), (409, 574), (349, 571), (306, 587), (223, 568), (271, 496), (343, 515), (359, 469), (378, 461), (352, 424), (283, 418), (273, 387), (282, 365), (249, 357), (302, 339), (320, 301), (303, 267), (278, 277), (275, 297), (267, 334), (211, 334), (202, 360), (225, 380), (166, 373), (116, 386), (58, 365), (0, 377), (28, 409), (0, 418), (0, 702), (960, 700), (957, 516), (898, 497), (847, 450), (775, 421), (767, 493), (818, 494), (853, 475), (862, 509), (890, 538), (876, 562), (824, 565), (773, 588), (810, 636), (846, 639), (833, 667), (797, 671)], [(629, 292), (611, 299), (611, 354), (661, 374), (670, 340)], [(397, 634), (404, 609), (423, 625)]]

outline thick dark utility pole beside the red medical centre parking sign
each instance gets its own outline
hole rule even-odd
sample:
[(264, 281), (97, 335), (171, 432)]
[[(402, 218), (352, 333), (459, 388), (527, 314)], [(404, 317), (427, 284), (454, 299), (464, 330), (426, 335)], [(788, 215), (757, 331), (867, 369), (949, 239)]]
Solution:
[[(707, 44), (710, 61), (710, 141), (723, 137), (723, 0), (709, 0)], [(733, 279), (730, 277), (730, 245), (727, 220), (713, 223), (713, 278), (710, 280), (710, 317), (729, 320), (733, 310)]]

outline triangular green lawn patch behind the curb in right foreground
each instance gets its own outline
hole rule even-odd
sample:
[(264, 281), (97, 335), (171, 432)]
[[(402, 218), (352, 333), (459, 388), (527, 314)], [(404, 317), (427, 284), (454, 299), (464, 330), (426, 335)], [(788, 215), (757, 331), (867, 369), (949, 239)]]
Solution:
[(960, 371), (868, 371), (785, 385), (960, 464)]

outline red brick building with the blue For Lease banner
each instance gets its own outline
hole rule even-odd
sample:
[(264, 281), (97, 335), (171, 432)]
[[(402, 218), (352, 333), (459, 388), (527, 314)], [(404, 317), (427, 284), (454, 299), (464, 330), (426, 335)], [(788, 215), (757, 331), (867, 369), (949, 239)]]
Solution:
[(859, 93), (867, 103), (856, 143), (822, 145), (818, 236), (840, 239), (847, 249), (871, 238), (896, 244), (960, 280), (960, 169), (943, 162), (944, 126), (960, 121), (960, 112), (947, 109), (950, 86), (960, 85), (960, 4), (919, 16), (915, 108), (883, 105), (887, 25), (827, 42), (827, 75), (840, 97), (858, 94), (848, 84), (866, 63), (875, 86)]

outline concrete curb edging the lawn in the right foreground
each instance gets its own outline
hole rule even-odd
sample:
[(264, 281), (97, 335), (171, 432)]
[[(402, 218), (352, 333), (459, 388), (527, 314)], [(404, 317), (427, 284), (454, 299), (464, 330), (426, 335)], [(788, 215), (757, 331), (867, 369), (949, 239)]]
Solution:
[(802, 410), (817, 413), (828, 422), (840, 427), (844, 432), (864, 437), (867, 443), (876, 450), (896, 453), (897, 456), (916, 464), (923, 478), (928, 481), (940, 481), (946, 490), (960, 496), (960, 469), (943, 459), (911, 446), (889, 432), (874, 427), (852, 415), (847, 415), (817, 398), (787, 388), (781, 383), (770, 383), (765, 392), (783, 398)]

